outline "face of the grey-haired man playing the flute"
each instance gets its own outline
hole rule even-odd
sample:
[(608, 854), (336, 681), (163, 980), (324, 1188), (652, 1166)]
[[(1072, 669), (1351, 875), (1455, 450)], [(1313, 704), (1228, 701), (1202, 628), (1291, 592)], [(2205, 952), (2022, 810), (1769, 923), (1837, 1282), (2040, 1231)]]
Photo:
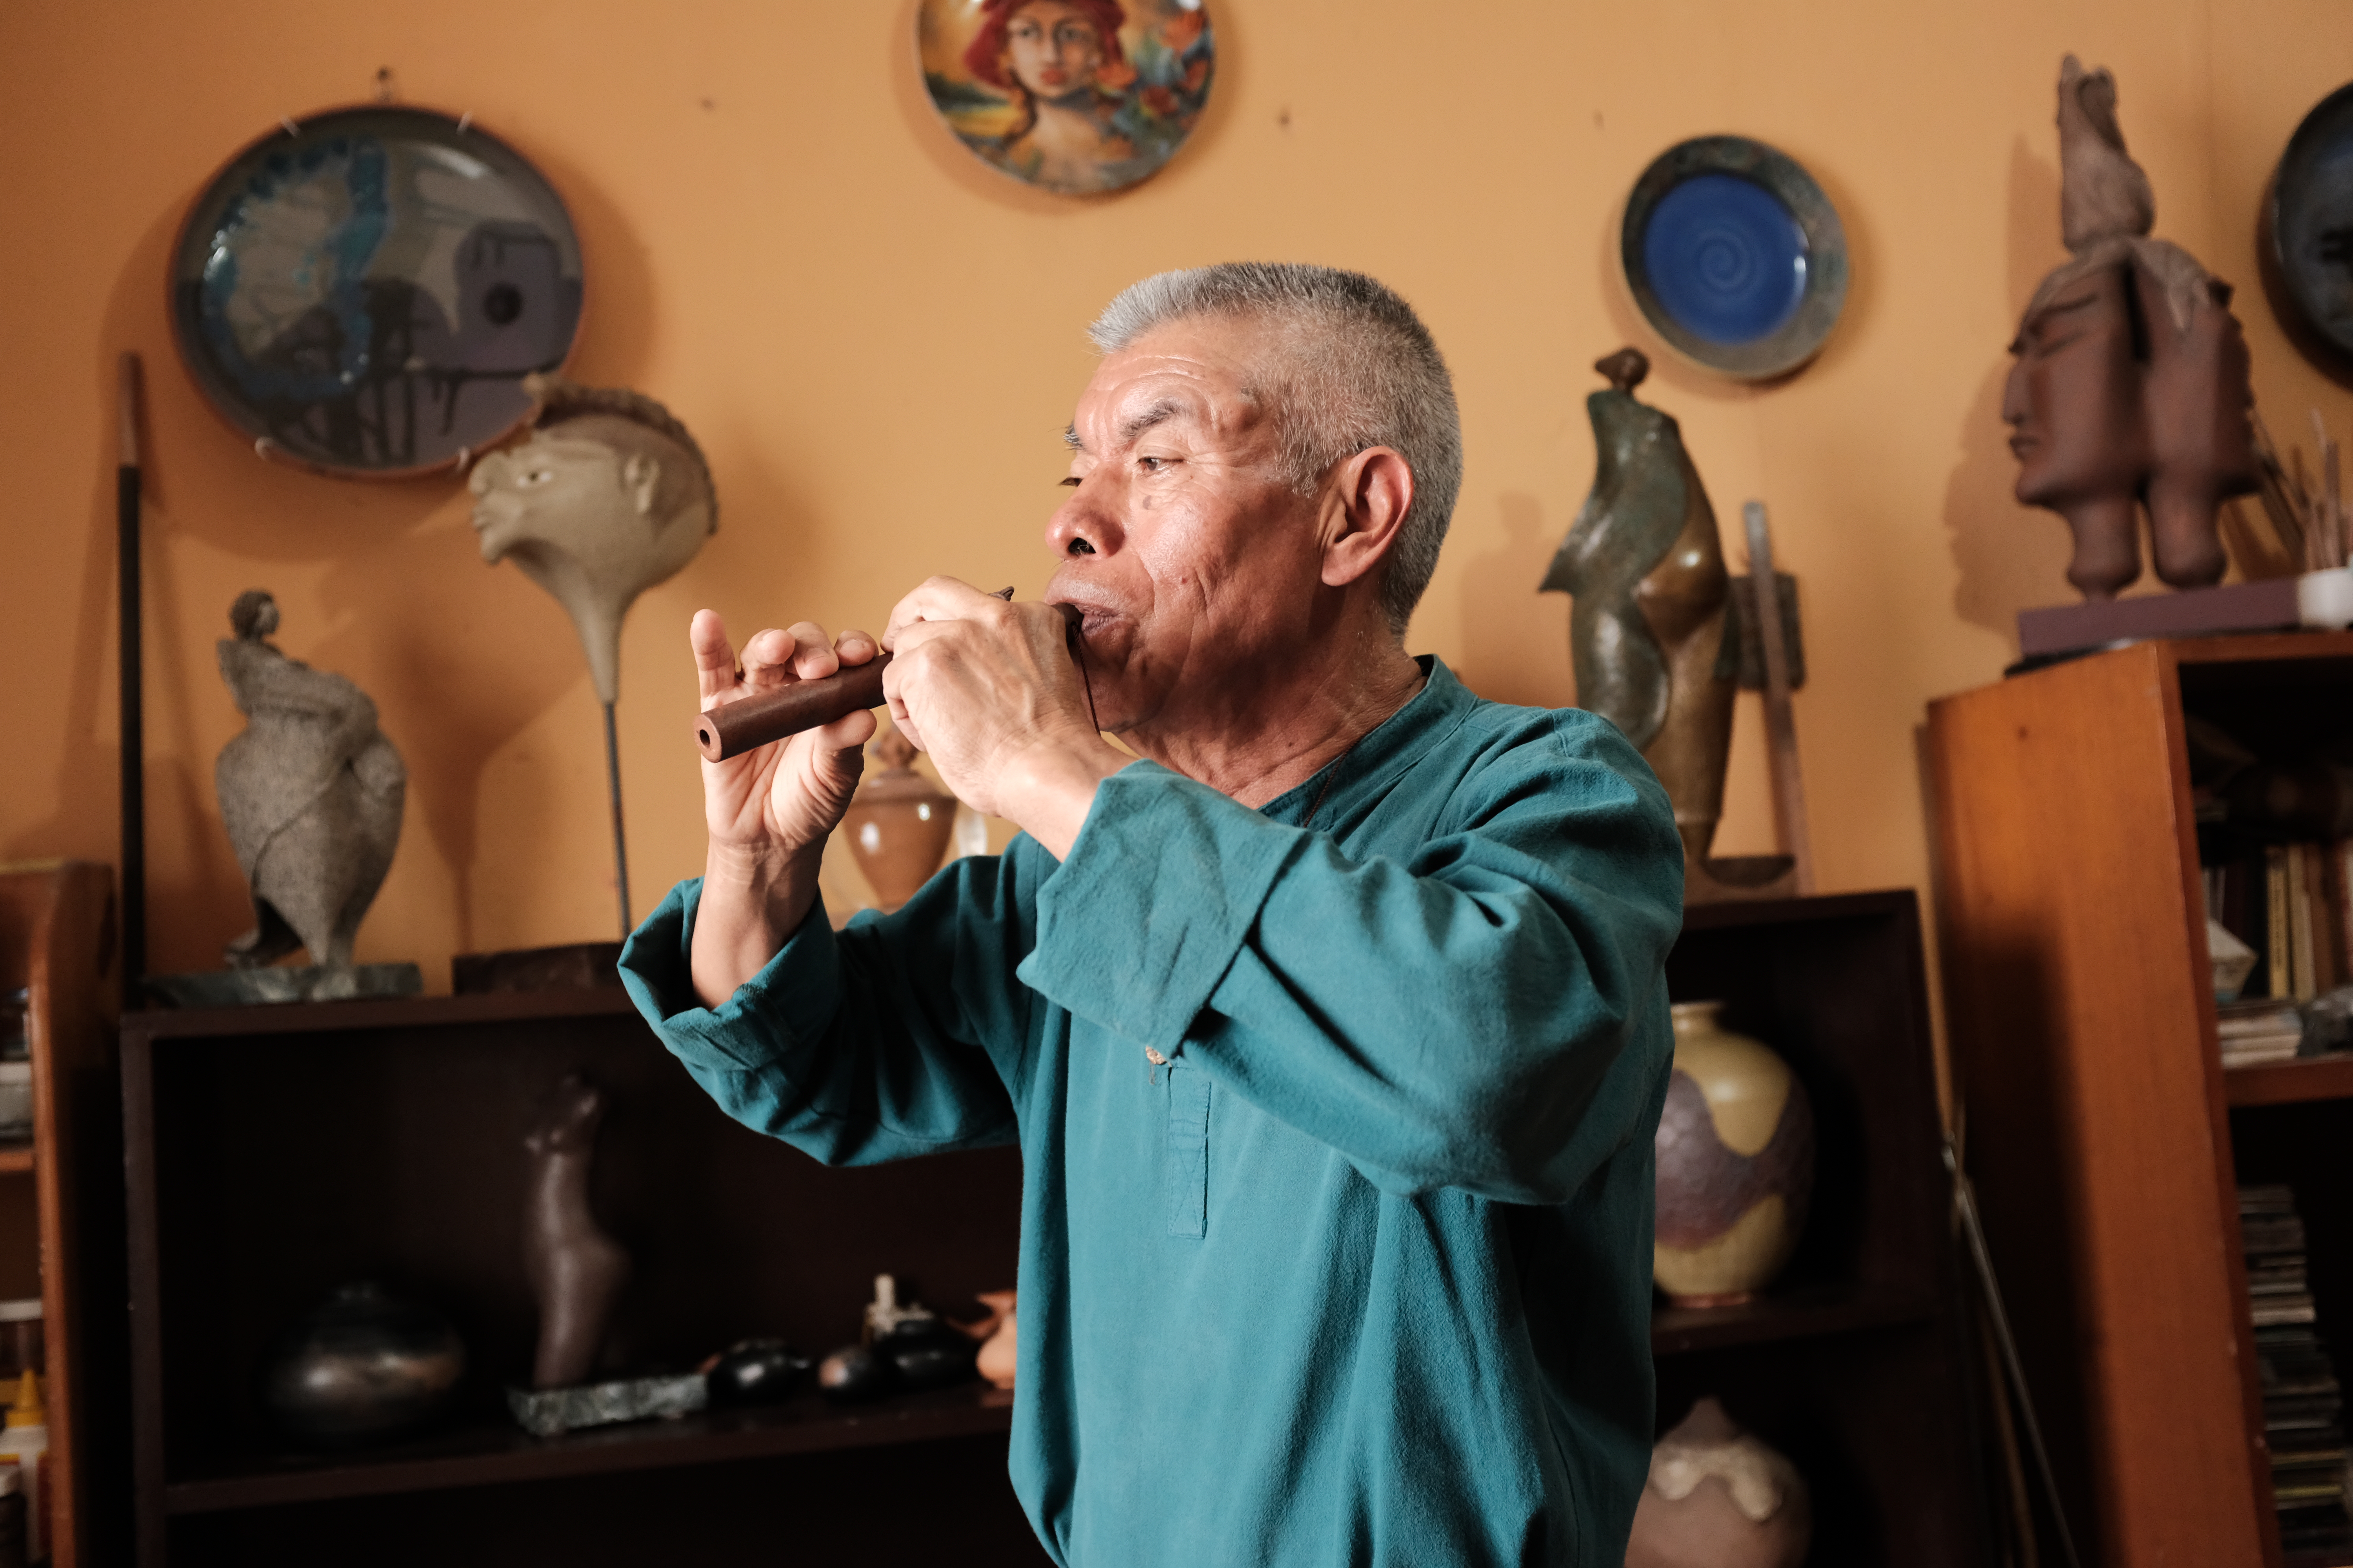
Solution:
[[(1249, 320), (1158, 327), (1108, 355), (1071, 421), (1071, 498), (1047, 522), (1047, 599), (1087, 614), (1096, 717), (1148, 726), (1247, 701), (1311, 637), (1322, 581), (1318, 503), (1278, 463), (1252, 376)], [(1254, 390), (1257, 386), (1257, 390)], [(1207, 696), (1207, 703), (1202, 701)]]

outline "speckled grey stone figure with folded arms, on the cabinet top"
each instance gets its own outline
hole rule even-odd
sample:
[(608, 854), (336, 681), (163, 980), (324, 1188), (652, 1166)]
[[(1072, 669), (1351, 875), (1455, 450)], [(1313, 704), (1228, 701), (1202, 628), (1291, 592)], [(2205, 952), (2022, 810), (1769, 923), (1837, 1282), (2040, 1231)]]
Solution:
[(313, 997), (351, 994), (351, 943), (400, 844), (407, 766), (376, 729), (376, 705), (341, 675), (268, 642), (278, 599), (259, 588), (228, 611), (221, 679), (245, 731), (221, 748), (212, 783), (228, 844), (254, 900), (254, 929), (228, 943), (233, 969), (296, 947), (329, 973)]

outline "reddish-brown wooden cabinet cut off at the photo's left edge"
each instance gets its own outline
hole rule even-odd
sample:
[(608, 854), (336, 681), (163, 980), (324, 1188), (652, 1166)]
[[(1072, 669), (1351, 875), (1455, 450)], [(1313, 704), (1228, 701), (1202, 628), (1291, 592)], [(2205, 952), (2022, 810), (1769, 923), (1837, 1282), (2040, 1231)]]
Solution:
[(42, 1302), (54, 1568), (127, 1544), (113, 926), (108, 867), (0, 867), (0, 990), (28, 992), (33, 1053), (33, 1145), (0, 1150), (0, 1295)]

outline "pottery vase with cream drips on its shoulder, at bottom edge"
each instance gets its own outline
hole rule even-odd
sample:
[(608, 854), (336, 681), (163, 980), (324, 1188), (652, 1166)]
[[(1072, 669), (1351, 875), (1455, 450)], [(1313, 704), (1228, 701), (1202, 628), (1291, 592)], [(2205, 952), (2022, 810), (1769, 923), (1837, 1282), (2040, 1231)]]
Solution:
[(1798, 1568), (1812, 1535), (1798, 1467), (1701, 1399), (1649, 1453), (1626, 1568)]

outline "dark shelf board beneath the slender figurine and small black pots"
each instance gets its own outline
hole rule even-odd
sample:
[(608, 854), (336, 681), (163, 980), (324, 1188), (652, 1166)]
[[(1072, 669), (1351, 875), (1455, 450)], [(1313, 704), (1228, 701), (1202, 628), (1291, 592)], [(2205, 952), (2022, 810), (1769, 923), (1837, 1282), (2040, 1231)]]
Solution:
[(680, 1420), (598, 1427), (536, 1439), (515, 1425), (478, 1425), (442, 1436), (334, 1458), (254, 1458), (240, 1469), (172, 1481), (165, 1512), (212, 1514), (280, 1502), (381, 1497), (501, 1481), (551, 1481), (668, 1465), (718, 1465), (788, 1453), (922, 1443), (1012, 1429), (1009, 1392), (965, 1385), (868, 1406), (831, 1406), (802, 1394), (781, 1406), (708, 1410)]

